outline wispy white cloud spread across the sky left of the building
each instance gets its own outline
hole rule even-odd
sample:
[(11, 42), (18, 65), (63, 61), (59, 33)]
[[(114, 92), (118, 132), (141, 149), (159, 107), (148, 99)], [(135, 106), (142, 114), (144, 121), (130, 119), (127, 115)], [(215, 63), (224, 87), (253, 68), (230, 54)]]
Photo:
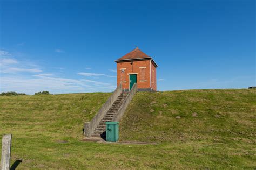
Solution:
[[(48, 90), (50, 93), (60, 94), (113, 91), (116, 88), (116, 85), (112, 83), (89, 79), (67, 79), (65, 77), (55, 77), (52, 73), (43, 73), (40, 66), (30, 61), (17, 60), (6, 51), (0, 51), (0, 62), (0, 72), (2, 73), (0, 91), (34, 94), (38, 91)], [(79, 74), (93, 79), (100, 76), (114, 77), (99, 73)]]

